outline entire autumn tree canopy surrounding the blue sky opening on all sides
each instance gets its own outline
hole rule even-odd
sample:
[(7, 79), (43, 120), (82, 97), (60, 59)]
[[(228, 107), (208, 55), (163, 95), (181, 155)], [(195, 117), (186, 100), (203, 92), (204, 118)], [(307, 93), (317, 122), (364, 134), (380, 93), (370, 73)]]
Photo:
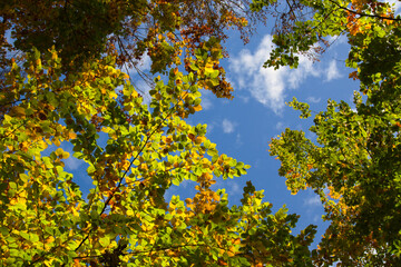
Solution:
[[(312, 188), (330, 226), (293, 235), (247, 182), (228, 204), (217, 179), (250, 166), (219, 154), (200, 90), (232, 99), (227, 29), (246, 42), (275, 17), (265, 67), (297, 67), (344, 36), (354, 105), (327, 101), (311, 131), (271, 141), (288, 189)], [(400, 261), (401, 18), (374, 0), (18, 0), (0, 3), (0, 264), (4, 266), (394, 266)], [(140, 63), (150, 59), (150, 71)], [(150, 87), (135, 85), (136, 71)], [(311, 117), (307, 103), (290, 106)], [(72, 146), (74, 155), (65, 145)], [(68, 159), (87, 164), (85, 194)], [(166, 191), (193, 180), (187, 199)]]

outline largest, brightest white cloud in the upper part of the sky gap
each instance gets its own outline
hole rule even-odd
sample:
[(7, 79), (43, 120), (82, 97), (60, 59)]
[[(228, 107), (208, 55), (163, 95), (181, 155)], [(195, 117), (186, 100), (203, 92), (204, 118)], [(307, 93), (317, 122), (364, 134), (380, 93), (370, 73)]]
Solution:
[(297, 69), (287, 67), (274, 70), (263, 68), (273, 48), (272, 37), (265, 36), (255, 52), (243, 49), (231, 59), (231, 68), (236, 75), (239, 88), (247, 89), (258, 102), (280, 113), (284, 108), (285, 89), (296, 89), (309, 76), (319, 76), (313, 63), (300, 56)]

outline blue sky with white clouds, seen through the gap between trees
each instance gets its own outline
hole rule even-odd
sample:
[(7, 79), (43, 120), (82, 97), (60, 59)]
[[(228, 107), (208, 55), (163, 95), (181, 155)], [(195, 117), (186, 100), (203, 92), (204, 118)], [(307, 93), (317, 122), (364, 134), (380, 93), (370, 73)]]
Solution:
[[(309, 131), (313, 117), (300, 119), (300, 113), (286, 106), (293, 97), (307, 102), (316, 112), (325, 110), (329, 99), (344, 100), (352, 106), (359, 82), (349, 79), (352, 70), (345, 67), (349, 44), (344, 37), (333, 38), (332, 41), (332, 46), (320, 56), (320, 61), (312, 62), (301, 56), (297, 69), (273, 70), (262, 67), (273, 46), (268, 27), (258, 27), (246, 46), (233, 32), (223, 43), (229, 58), (224, 59), (222, 65), (233, 85), (234, 99), (217, 99), (212, 92), (203, 90), (203, 110), (188, 118), (192, 125), (207, 125), (207, 137), (217, 144), (221, 154), (251, 165), (247, 175), (227, 180), (219, 178), (214, 188), (225, 188), (229, 204), (239, 205), (242, 189), (251, 180), (256, 190), (264, 190), (264, 200), (273, 204), (273, 211), (286, 205), (290, 214), (301, 216), (295, 233), (310, 224), (317, 226), (312, 248), (316, 247), (327, 226), (322, 220), (320, 199), (311, 190), (291, 195), (285, 178), (277, 174), (280, 161), (268, 154), (268, 142), (285, 128), (303, 130), (306, 137), (314, 138)], [(149, 68), (148, 60), (143, 68)], [(76, 178), (82, 177), (80, 185), (91, 187), (91, 181), (84, 178), (85, 171), (79, 172), (85, 169), (82, 162), (70, 157), (66, 167), (75, 172)], [(169, 189), (165, 198), (168, 201), (173, 195), (180, 195), (185, 199), (195, 192), (193, 186), (192, 181), (184, 181), (179, 188)]]

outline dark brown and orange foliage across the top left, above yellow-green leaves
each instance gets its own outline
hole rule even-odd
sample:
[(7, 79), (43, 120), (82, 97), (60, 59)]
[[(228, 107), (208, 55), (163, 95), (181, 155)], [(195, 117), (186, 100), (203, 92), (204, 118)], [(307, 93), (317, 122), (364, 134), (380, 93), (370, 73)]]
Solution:
[[(10, 66), (10, 50), (27, 52), (36, 47), (42, 53), (55, 47), (68, 62), (62, 65), (65, 72), (79, 70), (85, 61), (104, 53), (115, 55), (119, 68), (128, 66), (138, 71), (138, 63), (147, 55), (151, 75), (182, 63), (190, 71), (195, 50), (208, 37), (223, 41), (227, 38), (225, 30), (236, 28), (246, 42), (251, 24), (264, 18), (263, 13), (251, 12), (247, 0), (20, 0), (3, 3), (0, 10), (0, 67)], [(8, 42), (7, 31), (11, 31), (13, 43)], [(221, 70), (219, 83), (203, 86), (218, 97), (231, 98), (225, 72), (219, 66), (212, 67)]]

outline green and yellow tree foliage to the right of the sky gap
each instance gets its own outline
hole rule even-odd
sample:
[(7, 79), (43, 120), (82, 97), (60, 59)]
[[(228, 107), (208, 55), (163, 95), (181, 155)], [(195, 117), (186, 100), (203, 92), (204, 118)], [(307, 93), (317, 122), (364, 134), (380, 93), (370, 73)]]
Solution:
[[(261, 2), (254, 8), (265, 4)], [(297, 52), (311, 52), (314, 43), (330, 44), (327, 37), (343, 34), (351, 46), (346, 66), (355, 69), (350, 78), (360, 80), (355, 110), (329, 100), (326, 111), (316, 112), (310, 129), (315, 141), (286, 129), (271, 142), (288, 189), (296, 194), (311, 188), (324, 206), (330, 226), (314, 264), (395, 266), (401, 251), (401, 17), (379, 1), (287, 3), (285, 23), (274, 37), (277, 48), (266, 66), (296, 67)], [(312, 13), (297, 16), (305, 10)], [(294, 99), (290, 106), (301, 118), (311, 116), (307, 103)]]

